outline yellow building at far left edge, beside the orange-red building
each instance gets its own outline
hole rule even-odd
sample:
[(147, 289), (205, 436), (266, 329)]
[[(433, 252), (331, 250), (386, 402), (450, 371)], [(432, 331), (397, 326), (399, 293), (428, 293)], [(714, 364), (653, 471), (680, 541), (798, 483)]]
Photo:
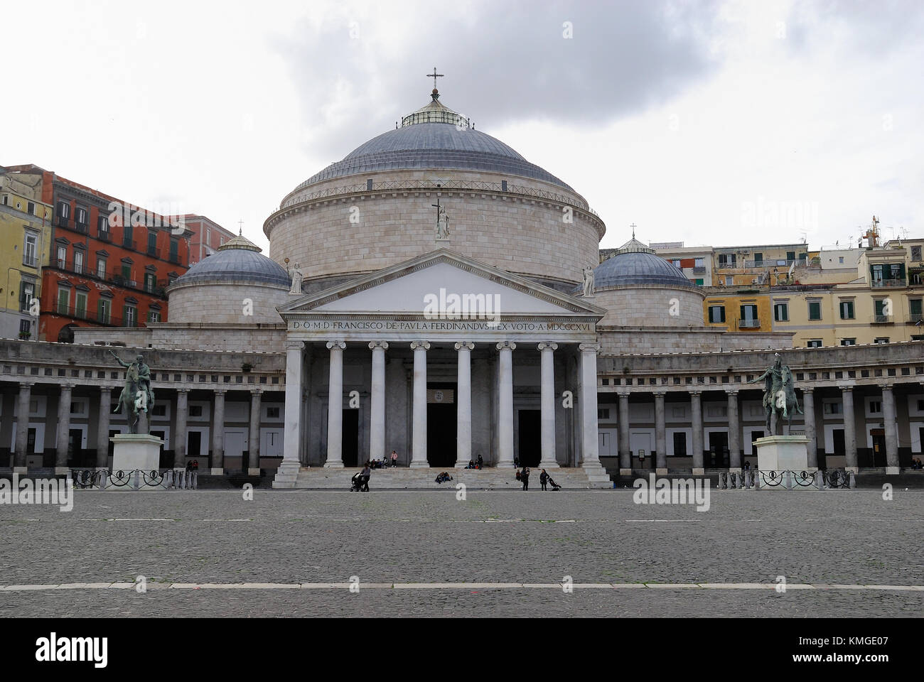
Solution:
[(52, 207), (41, 176), (0, 166), (0, 338), (38, 337), (42, 266), (51, 250)]

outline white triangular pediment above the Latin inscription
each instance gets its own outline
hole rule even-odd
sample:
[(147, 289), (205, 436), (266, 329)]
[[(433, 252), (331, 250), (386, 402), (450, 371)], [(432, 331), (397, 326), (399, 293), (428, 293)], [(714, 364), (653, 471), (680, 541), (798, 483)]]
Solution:
[(577, 315), (599, 319), (605, 314), (580, 298), (444, 249), (295, 298), (281, 306), (279, 312), (284, 318), (289, 313), (307, 312), (423, 315), (434, 302), (441, 308), (446, 304), (451, 307), (456, 300), (464, 306), (467, 296), (472, 304), (485, 300), (488, 305), (498, 305), (504, 316)]

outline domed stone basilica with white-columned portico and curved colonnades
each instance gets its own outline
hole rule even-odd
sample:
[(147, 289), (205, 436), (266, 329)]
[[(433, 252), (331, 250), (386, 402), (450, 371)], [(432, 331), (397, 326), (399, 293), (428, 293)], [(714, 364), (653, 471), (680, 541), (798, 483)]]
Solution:
[[(268, 253), (239, 236), (178, 277), (168, 322), (0, 342), (13, 466), (107, 465), (125, 431), (113, 347), (152, 368), (162, 466), (195, 459), (280, 488), (392, 451), (409, 470), (480, 458), (580, 487), (740, 470), (766, 435), (748, 382), (777, 353), (796, 373), (805, 414), (786, 429), (808, 437), (809, 467), (891, 473), (920, 453), (924, 342), (794, 348), (792, 333), (705, 325), (701, 287), (634, 234), (601, 263), (588, 201), (435, 88), (289, 191), (263, 231)], [(27, 410), (41, 457), (15, 423)]]

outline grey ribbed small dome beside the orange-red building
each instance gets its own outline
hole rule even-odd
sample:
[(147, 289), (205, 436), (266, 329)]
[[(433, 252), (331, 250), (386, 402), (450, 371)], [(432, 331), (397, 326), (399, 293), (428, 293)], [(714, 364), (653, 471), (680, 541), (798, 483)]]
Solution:
[(261, 254), (261, 248), (247, 237), (238, 235), (177, 277), (174, 286), (195, 282), (266, 284), (287, 289), (292, 280), (282, 265)]

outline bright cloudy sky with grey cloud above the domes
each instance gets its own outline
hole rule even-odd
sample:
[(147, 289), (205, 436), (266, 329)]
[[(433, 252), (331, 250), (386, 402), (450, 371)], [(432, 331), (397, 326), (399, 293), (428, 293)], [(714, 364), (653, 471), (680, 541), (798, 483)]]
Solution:
[[(46, 1), (4, 6), (0, 164), (204, 213), (283, 196), (429, 101), (629, 237), (924, 237), (924, 3)], [(18, 27), (12, 30), (11, 27)]]

